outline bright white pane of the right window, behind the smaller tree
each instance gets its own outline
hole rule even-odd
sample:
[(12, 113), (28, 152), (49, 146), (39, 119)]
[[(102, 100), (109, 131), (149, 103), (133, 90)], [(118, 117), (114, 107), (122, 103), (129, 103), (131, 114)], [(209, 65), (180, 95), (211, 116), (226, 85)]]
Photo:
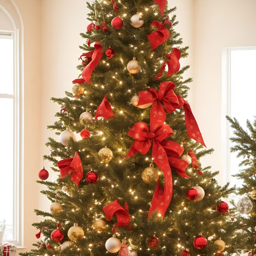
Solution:
[[(243, 128), (246, 120), (254, 120), (256, 115), (256, 49), (231, 50), (230, 53), (230, 83), (231, 83), (231, 117), (236, 117)], [(232, 136), (232, 134), (231, 134)], [(231, 153), (231, 173), (240, 169), (241, 158), (237, 153)], [(235, 178), (233, 184), (237, 184)], [(239, 184), (237, 184), (239, 185)]]

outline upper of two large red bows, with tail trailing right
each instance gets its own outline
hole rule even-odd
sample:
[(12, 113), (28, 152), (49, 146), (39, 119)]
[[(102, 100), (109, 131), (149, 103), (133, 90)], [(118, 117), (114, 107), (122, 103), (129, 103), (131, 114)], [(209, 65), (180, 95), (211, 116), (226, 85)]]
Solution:
[[(176, 108), (184, 108), (185, 123), (187, 128), (187, 136), (195, 141), (198, 141), (205, 146), (198, 124), (193, 116), (189, 103), (187, 103), (180, 95), (175, 94), (173, 91), (175, 84), (173, 82), (160, 83), (159, 90), (148, 88), (148, 91), (139, 92), (139, 103), (141, 106), (147, 103), (154, 102), (150, 110), (150, 126), (159, 127), (159, 124), (164, 123), (166, 120), (165, 110), (170, 114)], [(161, 104), (164, 103), (164, 108)]]

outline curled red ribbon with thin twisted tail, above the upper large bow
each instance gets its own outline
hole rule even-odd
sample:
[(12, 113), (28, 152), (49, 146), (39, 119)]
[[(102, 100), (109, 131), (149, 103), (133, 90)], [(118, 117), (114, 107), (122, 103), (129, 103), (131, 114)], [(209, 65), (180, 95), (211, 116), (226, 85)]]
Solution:
[(175, 74), (180, 70), (180, 56), (181, 52), (177, 48), (173, 48), (170, 54), (166, 55), (166, 58), (168, 58), (168, 61), (165, 61), (160, 68), (159, 73), (157, 74), (155, 81), (158, 80), (160, 77), (162, 77), (163, 72), (165, 70), (166, 64), (168, 65), (168, 72), (167, 77), (171, 76), (172, 74)]

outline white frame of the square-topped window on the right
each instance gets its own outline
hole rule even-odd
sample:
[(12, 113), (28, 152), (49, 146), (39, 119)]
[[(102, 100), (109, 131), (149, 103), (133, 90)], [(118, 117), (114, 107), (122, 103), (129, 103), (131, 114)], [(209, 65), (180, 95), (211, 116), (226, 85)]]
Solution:
[(231, 116), (231, 51), (256, 50), (256, 46), (227, 47), (222, 51), (222, 112), (221, 112), (221, 148), (222, 148), (222, 180), (231, 182), (231, 127), (226, 115)]

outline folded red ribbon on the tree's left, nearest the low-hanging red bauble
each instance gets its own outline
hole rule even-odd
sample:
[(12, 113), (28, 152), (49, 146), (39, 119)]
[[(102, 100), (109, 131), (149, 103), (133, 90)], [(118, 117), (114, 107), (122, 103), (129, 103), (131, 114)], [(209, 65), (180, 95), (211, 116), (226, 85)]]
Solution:
[(57, 166), (60, 169), (61, 179), (64, 180), (67, 176), (70, 176), (70, 180), (79, 187), (79, 183), (83, 178), (83, 166), (77, 152), (74, 158), (63, 159), (58, 162)]

